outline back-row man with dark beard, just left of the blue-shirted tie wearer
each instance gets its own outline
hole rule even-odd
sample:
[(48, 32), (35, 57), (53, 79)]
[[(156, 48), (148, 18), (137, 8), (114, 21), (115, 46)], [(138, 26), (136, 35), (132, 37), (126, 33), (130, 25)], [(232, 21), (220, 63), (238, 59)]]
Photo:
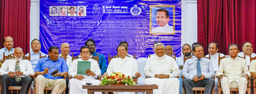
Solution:
[[(182, 46), (182, 54), (183, 56), (185, 55), (185, 58), (188, 58), (191, 55), (191, 47), (189, 44), (184, 44)], [(184, 57), (182, 55), (176, 59), (176, 62), (179, 66), (180, 69), (180, 76), (182, 75), (183, 72), (183, 65), (184, 65)], [(182, 94), (182, 78), (179, 77), (180, 81), (180, 94)]]

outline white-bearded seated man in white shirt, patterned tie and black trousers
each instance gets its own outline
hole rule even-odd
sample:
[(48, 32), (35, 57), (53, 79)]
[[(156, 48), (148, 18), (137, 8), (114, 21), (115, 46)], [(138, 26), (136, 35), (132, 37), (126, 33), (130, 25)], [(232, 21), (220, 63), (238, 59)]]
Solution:
[(22, 86), (19, 93), (28, 93), (32, 83), (29, 75), (35, 74), (30, 61), (22, 60), (23, 50), (16, 47), (14, 53), (15, 59), (6, 60), (0, 68), (1, 94), (7, 94), (9, 86)]

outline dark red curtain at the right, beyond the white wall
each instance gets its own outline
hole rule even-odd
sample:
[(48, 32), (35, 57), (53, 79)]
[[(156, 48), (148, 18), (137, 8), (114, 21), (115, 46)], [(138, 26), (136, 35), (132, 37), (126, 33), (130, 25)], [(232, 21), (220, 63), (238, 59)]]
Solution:
[(205, 55), (212, 41), (224, 54), (228, 54), (229, 44), (238, 44), (240, 51), (246, 41), (256, 47), (255, 5), (255, 0), (198, 0), (198, 43), (203, 45)]

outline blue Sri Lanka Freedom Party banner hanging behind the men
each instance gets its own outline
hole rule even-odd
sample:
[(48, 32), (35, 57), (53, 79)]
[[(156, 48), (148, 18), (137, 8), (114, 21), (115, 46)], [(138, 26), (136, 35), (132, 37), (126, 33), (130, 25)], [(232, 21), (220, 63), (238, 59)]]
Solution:
[(156, 41), (172, 45), (180, 56), (181, 0), (40, 0), (43, 53), (67, 42), (76, 56), (87, 39), (107, 60), (121, 41), (128, 42), (128, 54), (136, 58), (153, 54)]

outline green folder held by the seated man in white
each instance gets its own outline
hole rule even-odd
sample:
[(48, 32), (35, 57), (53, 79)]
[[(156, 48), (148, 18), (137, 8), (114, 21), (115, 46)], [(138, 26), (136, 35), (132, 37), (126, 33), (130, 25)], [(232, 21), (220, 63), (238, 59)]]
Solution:
[(78, 61), (76, 74), (77, 75), (87, 75), (85, 73), (85, 71), (87, 69), (90, 69), (90, 64), (91, 64), (91, 62), (89, 62), (89, 61)]

